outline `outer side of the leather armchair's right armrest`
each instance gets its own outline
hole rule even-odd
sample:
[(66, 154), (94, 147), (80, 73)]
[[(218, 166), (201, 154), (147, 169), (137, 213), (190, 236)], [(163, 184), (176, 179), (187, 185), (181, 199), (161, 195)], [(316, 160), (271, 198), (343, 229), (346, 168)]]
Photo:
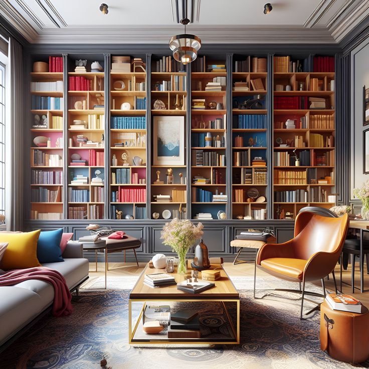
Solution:
[(305, 269), (305, 281), (316, 281), (326, 277), (336, 266), (339, 253), (319, 251), (310, 256)]

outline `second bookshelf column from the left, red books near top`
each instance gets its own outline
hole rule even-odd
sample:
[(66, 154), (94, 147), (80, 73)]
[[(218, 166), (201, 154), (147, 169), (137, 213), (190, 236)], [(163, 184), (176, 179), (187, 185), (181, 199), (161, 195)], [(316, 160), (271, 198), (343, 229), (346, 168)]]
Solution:
[[(99, 63), (104, 65), (102, 59)], [(104, 72), (75, 72), (72, 66), (68, 72), (66, 156), (69, 219), (97, 220), (105, 217), (104, 100)], [(73, 160), (84, 162), (79, 165)], [(87, 178), (86, 183), (74, 184), (72, 181), (80, 176)], [(96, 179), (93, 178), (101, 178), (102, 182), (94, 182)]]

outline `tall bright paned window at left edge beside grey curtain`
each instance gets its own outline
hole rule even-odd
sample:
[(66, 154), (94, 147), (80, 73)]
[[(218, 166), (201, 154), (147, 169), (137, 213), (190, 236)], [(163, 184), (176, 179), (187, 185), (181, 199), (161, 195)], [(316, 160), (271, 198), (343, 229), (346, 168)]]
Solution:
[(0, 214), (5, 215), (5, 65), (0, 63)]

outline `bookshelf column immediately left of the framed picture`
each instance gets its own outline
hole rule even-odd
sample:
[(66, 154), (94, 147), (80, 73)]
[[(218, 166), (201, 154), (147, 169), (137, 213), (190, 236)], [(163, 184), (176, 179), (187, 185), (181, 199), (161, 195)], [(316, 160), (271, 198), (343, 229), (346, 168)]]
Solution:
[[(132, 61), (133, 56), (130, 59)], [(145, 63), (145, 59), (142, 61)], [(112, 219), (147, 217), (144, 215), (147, 192), (146, 81), (146, 72), (142, 68), (134, 71), (131, 66), (130, 72), (124, 73), (111, 69), (109, 196)], [(122, 82), (123, 87), (120, 86)], [(142, 159), (141, 165), (135, 165), (135, 157)]]

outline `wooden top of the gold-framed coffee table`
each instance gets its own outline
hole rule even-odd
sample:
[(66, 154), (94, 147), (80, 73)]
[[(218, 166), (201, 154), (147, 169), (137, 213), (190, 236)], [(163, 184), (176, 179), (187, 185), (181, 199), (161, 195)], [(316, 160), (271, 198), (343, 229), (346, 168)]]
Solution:
[[(228, 277), (226, 271), (223, 269), (220, 264), (212, 264), (211, 269), (220, 268), (221, 278), (214, 281), (215, 286), (203, 291), (201, 293), (188, 293), (185, 291), (177, 290), (177, 286), (168, 286), (168, 287), (159, 287), (159, 288), (151, 288), (143, 284), (143, 280), (145, 274), (153, 274), (153, 273), (165, 273), (165, 269), (150, 269), (148, 264), (145, 269), (141, 273), (138, 281), (134, 285), (129, 298), (130, 299), (165, 299), (165, 298), (174, 298), (178, 300), (182, 299), (212, 299), (212, 298), (223, 298), (223, 299), (235, 299), (240, 298), (238, 291), (233, 285), (232, 281)], [(181, 282), (185, 280), (185, 276), (183, 274), (171, 273), (175, 278), (175, 281)], [(188, 271), (188, 275), (191, 275), (191, 271)], [(201, 278), (201, 274), (199, 273), (199, 277)], [(212, 281), (210, 281), (212, 282)]]

